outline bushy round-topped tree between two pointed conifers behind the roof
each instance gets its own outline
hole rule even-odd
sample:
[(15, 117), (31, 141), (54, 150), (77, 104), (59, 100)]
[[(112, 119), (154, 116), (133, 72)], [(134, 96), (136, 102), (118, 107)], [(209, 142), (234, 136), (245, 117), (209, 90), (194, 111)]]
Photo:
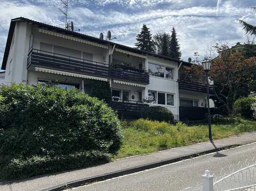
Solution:
[(171, 35), (166, 32), (158, 32), (153, 36), (153, 42), (154, 42), (154, 51), (157, 54), (161, 54), (164, 56), (169, 56), (169, 43), (171, 40)]

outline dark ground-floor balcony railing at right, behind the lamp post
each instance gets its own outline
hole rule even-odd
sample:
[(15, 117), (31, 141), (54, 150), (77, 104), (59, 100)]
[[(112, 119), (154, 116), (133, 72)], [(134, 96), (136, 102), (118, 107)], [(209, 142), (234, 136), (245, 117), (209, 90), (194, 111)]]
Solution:
[[(216, 108), (210, 108), (211, 115), (219, 114), (219, 110)], [(208, 110), (206, 107), (179, 107), (180, 120), (181, 121), (195, 121), (206, 119)]]

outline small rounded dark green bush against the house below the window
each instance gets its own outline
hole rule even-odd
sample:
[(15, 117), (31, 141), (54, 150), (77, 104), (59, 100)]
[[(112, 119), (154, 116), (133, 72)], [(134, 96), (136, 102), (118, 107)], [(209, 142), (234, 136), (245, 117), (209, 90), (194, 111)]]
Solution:
[(173, 122), (173, 113), (165, 107), (147, 107), (142, 113), (145, 119), (159, 121), (159, 122)]

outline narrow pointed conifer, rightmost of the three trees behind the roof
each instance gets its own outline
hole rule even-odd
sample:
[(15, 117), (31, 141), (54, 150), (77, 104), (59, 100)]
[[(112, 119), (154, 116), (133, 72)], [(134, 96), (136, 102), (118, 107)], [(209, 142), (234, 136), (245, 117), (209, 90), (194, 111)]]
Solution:
[(174, 27), (171, 35), (171, 41), (169, 44), (169, 56), (179, 60), (181, 59), (182, 56), (182, 53), (180, 51), (180, 45), (177, 39), (177, 34)]

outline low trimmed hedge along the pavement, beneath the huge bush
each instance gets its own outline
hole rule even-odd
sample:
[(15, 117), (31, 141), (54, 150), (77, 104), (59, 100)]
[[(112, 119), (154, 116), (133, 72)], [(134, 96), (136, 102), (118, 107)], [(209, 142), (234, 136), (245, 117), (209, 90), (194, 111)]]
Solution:
[(0, 166), (0, 180), (23, 179), (41, 174), (84, 168), (110, 161), (112, 155), (102, 152), (81, 152), (56, 157), (33, 156), (27, 159), (12, 159)]

